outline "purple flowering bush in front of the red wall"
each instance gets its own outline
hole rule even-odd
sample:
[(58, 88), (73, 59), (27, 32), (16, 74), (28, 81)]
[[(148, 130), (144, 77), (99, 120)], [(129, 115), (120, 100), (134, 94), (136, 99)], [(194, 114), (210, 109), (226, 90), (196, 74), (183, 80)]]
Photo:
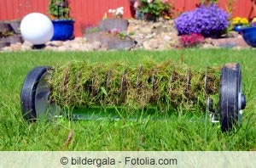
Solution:
[(215, 4), (201, 5), (192, 12), (181, 14), (175, 25), (179, 35), (201, 34), (202, 36), (219, 36), (229, 25), (229, 14)]

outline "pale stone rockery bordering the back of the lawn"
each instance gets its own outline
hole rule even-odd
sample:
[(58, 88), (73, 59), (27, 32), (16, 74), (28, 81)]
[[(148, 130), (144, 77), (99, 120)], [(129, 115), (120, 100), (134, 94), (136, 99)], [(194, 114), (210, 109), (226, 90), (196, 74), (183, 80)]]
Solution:
[[(175, 29), (174, 20), (160, 20), (157, 22), (146, 20), (128, 20), (129, 25), (122, 33), (131, 38), (121, 39), (119, 35), (111, 36), (108, 32), (96, 31), (84, 34), (67, 42), (47, 42), (46, 50), (53, 51), (95, 51), (108, 49), (145, 49), (145, 50), (168, 50), (183, 48)], [(17, 49), (18, 48), (18, 49)], [(251, 48), (236, 31), (231, 31), (229, 36), (220, 38), (207, 37), (197, 48)], [(32, 50), (32, 44), (12, 44), (2, 51), (26, 51)]]

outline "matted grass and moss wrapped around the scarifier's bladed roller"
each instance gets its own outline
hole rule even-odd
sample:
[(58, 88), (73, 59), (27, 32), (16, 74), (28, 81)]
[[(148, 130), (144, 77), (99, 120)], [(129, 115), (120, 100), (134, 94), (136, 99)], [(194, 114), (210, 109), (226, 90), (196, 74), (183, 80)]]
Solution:
[(127, 111), (151, 107), (162, 112), (181, 107), (204, 111), (207, 95), (218, 98), (220, 71), (221, 67), (199, 69), (171, 60), (147, 61), (137, 67), (72, 62), (49, 71), (50, 100), (70, 108), (98, 105), (121, 106)]

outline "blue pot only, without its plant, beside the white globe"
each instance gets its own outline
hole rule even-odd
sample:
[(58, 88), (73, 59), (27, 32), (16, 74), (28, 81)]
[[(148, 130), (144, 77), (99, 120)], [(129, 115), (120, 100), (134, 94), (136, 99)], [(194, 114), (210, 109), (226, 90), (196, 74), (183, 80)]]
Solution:
[(54, 36), (51, 41), (67, 41), (73, 39), (73, 20), (52, 20)]

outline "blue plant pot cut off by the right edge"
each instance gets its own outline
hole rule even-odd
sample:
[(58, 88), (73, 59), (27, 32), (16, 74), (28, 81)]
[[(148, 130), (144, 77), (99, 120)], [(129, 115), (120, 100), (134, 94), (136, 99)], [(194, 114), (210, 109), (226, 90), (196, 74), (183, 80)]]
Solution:
[(256, 27), (243, 28), (240, 32), (245, 42), (249, 46), (256, 48)]

